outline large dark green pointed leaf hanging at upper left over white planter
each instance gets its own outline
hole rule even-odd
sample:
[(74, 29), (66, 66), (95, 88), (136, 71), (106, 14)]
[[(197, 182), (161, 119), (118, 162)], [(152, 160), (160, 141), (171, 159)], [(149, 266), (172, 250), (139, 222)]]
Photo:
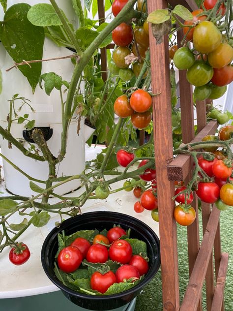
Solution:
[[(29, 22), (29, 8), (27, 3), (14, 4), (4, 15), (1, 41), (14, 62), (41, 60), (43, 57), (44, 30)], [(27, 77), (34, 93), (41, 74), (41, 62), (18, 68)]]

